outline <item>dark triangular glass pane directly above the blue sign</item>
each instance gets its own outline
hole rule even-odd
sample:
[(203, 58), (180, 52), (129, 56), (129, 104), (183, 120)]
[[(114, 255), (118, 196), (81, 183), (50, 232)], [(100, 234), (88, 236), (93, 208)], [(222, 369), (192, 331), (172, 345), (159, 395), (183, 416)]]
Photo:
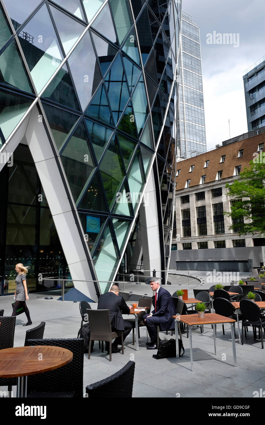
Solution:
[(78, 209), (108, 212), (98, 171), (89, 183)]

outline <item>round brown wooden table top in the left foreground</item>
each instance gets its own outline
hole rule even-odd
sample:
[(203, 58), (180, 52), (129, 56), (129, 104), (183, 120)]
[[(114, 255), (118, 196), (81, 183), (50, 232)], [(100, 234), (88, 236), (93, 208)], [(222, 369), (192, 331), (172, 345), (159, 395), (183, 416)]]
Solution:
[(13, 347), (0, 350), (0, 377), (35, 375), (67, 365), (73, 353), (55, 346)]

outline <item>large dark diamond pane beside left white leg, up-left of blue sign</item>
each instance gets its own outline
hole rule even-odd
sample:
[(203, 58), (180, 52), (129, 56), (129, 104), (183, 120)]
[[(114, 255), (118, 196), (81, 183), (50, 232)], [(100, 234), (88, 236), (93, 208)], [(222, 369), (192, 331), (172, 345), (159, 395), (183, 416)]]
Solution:
[(94, 170), (91, 150), (83, 122), (77, 126), (60, 155), (75, 202)]

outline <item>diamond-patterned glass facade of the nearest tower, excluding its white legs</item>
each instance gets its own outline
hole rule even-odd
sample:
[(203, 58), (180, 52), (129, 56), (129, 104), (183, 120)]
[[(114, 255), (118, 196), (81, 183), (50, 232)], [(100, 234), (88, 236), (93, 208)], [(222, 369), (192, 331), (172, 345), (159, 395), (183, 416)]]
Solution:
[[(160, 250), (165, 270), (175, 196), (178, 83), (174, 75), (179, 72), (181, 3), (31, 0), (16, 7), (11, 0), (4, 3), (12, 28), (1, 7), (0, 149), (37, 100), (60, 156), (62, 178), (71, 190), (80, 218), (77, 226), (84, 234), (101, 292), (110, 286), (104, 281), (113, 280), (119, 264), (125, 267), (133, 253), (140, 198), (152, 164), (162, 200), (158, 224), (164, 235)], [(22, 146), (17, 147), (17, 155), (28, 149)], [(26, 159), (21, 167), (25, 174)], [(35, 186), (41, 183), (34, 163), (22, 198), (18, 190), (11, 190), (12, 180), (19, 187), (21, 167), (11, 180), (8, 174), (13, 167), (0, 172), (8, 199), (1, 209), (6, 241), (0, 252), (2, 292), (10, 256), (34, 262), (34, 278), (49, 269), (48, 260), (51, 267), (56, 263), (57, 275), (61, 270), (67, 274), (48, 204), (36, 201), (41, 188)], [(51, 258), (48, 249), (54, 254)], [(36, 281), (34, 289), (38, 288)]]

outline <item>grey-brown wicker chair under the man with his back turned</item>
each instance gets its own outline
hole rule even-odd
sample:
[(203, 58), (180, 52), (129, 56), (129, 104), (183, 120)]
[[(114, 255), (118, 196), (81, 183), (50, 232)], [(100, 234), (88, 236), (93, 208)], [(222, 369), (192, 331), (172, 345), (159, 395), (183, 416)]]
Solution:
[(123, 331), (113, 332), (111, 330), (111, 319), (109, 317), (109, 310), (87, 310), (87, 313), (90, 327), (88, 359), (90, 359), (91, 341), (102, 341), (102, 353), (104, 347), (103, 341), (107, 341), (109, 342), (109, 361), (111, 362), (112, 340), (120, 336), (122, 337), (122, 353), (124, 354)]

